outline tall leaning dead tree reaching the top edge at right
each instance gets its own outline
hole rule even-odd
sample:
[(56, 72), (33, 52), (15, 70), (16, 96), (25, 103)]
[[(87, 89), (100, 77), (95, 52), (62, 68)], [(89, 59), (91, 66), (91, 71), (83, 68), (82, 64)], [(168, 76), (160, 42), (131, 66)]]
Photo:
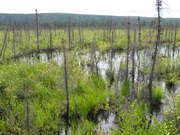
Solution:
[(153, 76), (154, 76), (154, 69), (156, 65), (156, 57), (157, 57), (157, 47), (161, 43), (161, 7), (162, 7), (162, 0), (156, 0), (156, 6), (157, 6), (157, 35), (156, 35), (156, 43), (155, 43), (155, 49), (154, 54), (152, 57), (152, 66), (151, 66), (151, 72), (149, 77), (149, 102), (150, 102), (150, 113), (153, 113), (153, 99), (152, 99), (152, 83), (153, 83)]

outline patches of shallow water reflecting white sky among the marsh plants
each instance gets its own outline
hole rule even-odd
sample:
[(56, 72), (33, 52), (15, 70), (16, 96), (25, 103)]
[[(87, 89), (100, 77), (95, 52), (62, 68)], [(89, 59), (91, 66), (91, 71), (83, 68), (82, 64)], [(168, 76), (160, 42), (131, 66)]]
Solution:
[[(152, 52), (153, 48), (150, 49), (143, 49), (135, 53), (135, 61), (136, 65), (139, 65), (139, 68), (141, 69), (146, 69), (150, 67), (151, 65), (151, 59), (152, 59)], [(173, 52), (171, 47), (164, 47), (160, 46), (158, 47), (158, 55), (162, 56), (163, 58), (169, 58), (171, 64), (170, 66), (174, 66), (174, 68), (178, 69), (180, 67), (180, 48), (176, 48), (175, 52)], [(28, 61), (30, 63), (33, 63), (34, 61), (34, 56), (37, 54), (31, 54), (29, 56), (24, 56), (23, 58), (20, 58), (24, 61)], [(94, 59), (95, 55), (95, 59)], [(174, 57), (173, 57), (174, 55)], [(132, 54), (130, 53), (130, 64), (129, 68), (131, 68), (131, 56)], [(46, 63), (49, 60), (54, 60), (55, 62), (58, 63), (59, 66), (63, 63), (63, 53), (59, 51), (53, 52), (51, 55), (50, 54), (45, 54), (41, 53), (39, 54), (39, 60), (40, 62)], [(92, 64), (92, 59), (94, 60), (95, 63), (97, 63), (98, 67), (98, 72), (103, 76), (104, 79), (106, 79), (106, 72), (112, 68), (114, 71), (114, 76), (116, 76), (119, 72), (121, 72), (122, 67), (124, 66), (125, 60), (126, 60), (126, 54), (123, 52), (105, 52), (101, 53), (99, 51), (95, 51), (94, 54), (92, 54), (91, 51), (82, 51), (76, 53), (76, 59), (79, 63), (79, 65), (83, 69), (89, 70), (91, 68)], [(157, 63), (158, 64), (158, 63)], [(112, 65), (112, 66), (111, 66)], [(129, 74), (131, 77), (131, 74)], [(138, 76), (138, 66), (136, 66), (135, 69), (135, 79), (137, 79)], [(143, 78), (140, 78), (140, 80), (145, 79), (148, 81), (148, 74), (144, 75)], [(170, 109), (169, 106), (172, 104), (172, 93), (179, 93), (180, 92), (180, 84), (175, 84), (173, 88), (169, 88), (166, 86), (166, 82), (163, 79), (156, 80), (156, 85), (160, 85), (163, 88), (163, 93), (164, 93), (164, 98), (162, 100), (162, 104), (166, 109)], [(113, 89), (114, 86), (112, 84), (111, 89)], [(154, 112), (156, 119), (159, 120), (159, 122), (163, 121), (163, 114), (164, 114), (164, 109), (161, 107), (160, 111)], [(105, 112), (107, 113), (107, 112)], [(108, 133), (112, 129), (118, 128), (118, 126), (115, 124), (116, 121), (116, 113), (115, 112), (108, 112), (107, 117), (104, 117), (103, 115), (98, 116), (98, 124), (97, 128), (94, 130), (97, 132), (103, 132), (103, 133)], [(63, 132), (62, 134), (65, 134)]]

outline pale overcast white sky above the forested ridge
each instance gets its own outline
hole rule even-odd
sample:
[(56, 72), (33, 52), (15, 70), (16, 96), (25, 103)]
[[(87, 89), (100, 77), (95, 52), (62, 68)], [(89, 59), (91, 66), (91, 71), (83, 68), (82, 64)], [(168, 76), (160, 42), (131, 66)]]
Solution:
[[(163, 0), (163, 17), (180, 18), (180, 0)], [(76, 13), (156, 17), (156, 0), (1, 0), (0, 13)]]

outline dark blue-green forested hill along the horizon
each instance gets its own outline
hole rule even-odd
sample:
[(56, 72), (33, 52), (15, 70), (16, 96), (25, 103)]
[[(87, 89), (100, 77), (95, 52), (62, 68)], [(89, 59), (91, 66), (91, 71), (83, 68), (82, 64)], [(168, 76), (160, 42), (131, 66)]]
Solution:
[[(105, 16), (105, 15), (82, 15), (69, 13), (42, 13), (38, 14), (39, 24), (42, 26), (55, 25), (57, 27), (67, 26), (71, 19), (73, 26), (125, 26), (127, 16)], [(129, 16), (132, 23), (136, 23), (138, 17)], [(155, 22), (153, 17), (141, 17), (143, 26), (152, 26)], [(171, 26), (173, 23), (180, 22), (180, 18), (163, 18), (163, 24)], [(34, 25), (35, 14), (0, 14), (0, 25)]]

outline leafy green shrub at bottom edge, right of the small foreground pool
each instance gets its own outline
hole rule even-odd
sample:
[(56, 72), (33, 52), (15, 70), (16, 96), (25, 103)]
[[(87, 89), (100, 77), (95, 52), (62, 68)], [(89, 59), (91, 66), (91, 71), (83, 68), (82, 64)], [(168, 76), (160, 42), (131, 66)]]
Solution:
[(119, 125), (120, 131), (113, 131), (112, 134), (122, 135), (163, 135), (164, 129), (160, 124), (151, 125), (146, 118), (147, 106), (142, 102), (134, 101), (130, 106), (120, 108)]

